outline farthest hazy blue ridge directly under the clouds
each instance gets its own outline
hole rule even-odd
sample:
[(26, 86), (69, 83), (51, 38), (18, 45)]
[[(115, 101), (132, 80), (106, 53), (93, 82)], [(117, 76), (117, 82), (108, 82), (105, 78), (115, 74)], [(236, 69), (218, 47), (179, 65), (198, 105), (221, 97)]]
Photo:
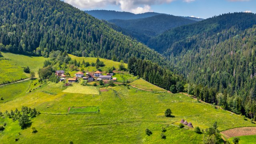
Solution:
[(138, 19), (138, 18), (148, 18), (148, 17), (156, 16), (160, 14), (156, 12), (134, 14), (131, 12), (117, 12), (114, 10), (86, 10), (84, 12), (100, 20), (113, 20), (113, 19), (132, 20), (132, 19)]

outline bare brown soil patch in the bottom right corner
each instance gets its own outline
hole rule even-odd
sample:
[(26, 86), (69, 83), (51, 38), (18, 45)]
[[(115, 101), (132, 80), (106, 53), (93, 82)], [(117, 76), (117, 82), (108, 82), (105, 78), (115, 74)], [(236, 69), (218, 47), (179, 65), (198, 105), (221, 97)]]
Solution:
[(226, 138), (231, 138), (234, 136), (256, 135), (256, 127), (232, 128), (230, 130), (225, 130), (220, 133), (226, 136)]

